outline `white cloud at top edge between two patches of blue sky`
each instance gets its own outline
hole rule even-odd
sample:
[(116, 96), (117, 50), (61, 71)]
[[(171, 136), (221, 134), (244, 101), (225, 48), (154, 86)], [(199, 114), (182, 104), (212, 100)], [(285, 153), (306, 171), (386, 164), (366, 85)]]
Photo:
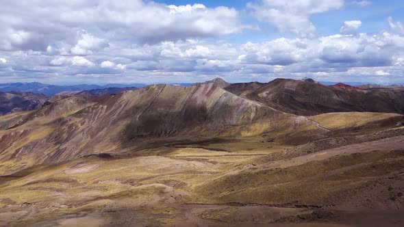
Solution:
[(302, 38), (317, 36), (316, 27), (310, 21), (312, 14), (338, 10), (343, 5), (343, 0), (260, 0), (248, 4), (258, 20)]

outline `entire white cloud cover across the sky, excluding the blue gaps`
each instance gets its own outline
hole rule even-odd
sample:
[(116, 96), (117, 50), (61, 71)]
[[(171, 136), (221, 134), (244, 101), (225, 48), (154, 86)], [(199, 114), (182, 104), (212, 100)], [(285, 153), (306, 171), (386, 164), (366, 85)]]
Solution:
[[(234, 22), (236, 27), (229, 27), (232, 18), (238, 21), (238, 16), (233, 16), (238, 12), (229, 8), (207, 8), (200, 4), (177, 7), (152, 1), (128, 1), (129, 5), (124, 6), (121, 2), (105, 0), (101, 3), (94, 1), (99, 5), (96, 9), (86, 1), (69, 1), (62, 6), (47, 1), (49, 6), (42, 5), (45, 9), (43, 20), (52, 23), (29, 23), (26, 18), (12, 17), (12, 22), (0, 23), (0, 29), (4, 31), (0, 34), (0, 56), (7, 61), (2, 63), (0, 59), (0, 78), (2, 81), (55, 78), (60, 79), (58, 83), (62, 80), (97, 83), (100, 79), (114, 83), (164, 83), (205, 81), (218, 76), (230, 81), (306, 76), (321, 81), (346, 81), (344, 78), (355, 81), (381, 76), (383, 79), (404, 80), (401, 23), (389, 18), (390, 31), (350, 34), (360, 24), (347, 21), (343, 34), (315, 38), (316, 28), (309, 20), (310, 16), (338, 9), (342, 2), (290, 1), (294, 8), (288, 2), (260, 1), (250, 3), (250, 7), (255, 16), (259, 12), (269, 12), (269, 16), (275, 17), (279, 14), (275, 21), (262, 14), (262, 21), (268, 20), (266, 22), (280, 31), (293, 32), (299, 37), (238, 44), (226, 39), (205, 39), (242, 29), (238, 22)], [(15, 6), (16, 3), (12, 4)], [(70, 14), (62, 12), (59, 7), (71, 9)], [(51, 16), (50, 9), (60, 15)], [(128, 9), (135, 12), (131, 14)], [(10, 5), (5, 5), (0, 9), (0, 18), (13, 10)], [(37, 10), (34, 5), (34, 17)], [(144, 21), (131, 18), (140, 15), (137, 10), (147, 17)], [(156, 12), (149, 15), (150, 10)], [(211, 18), (212, 14), (230, 21), (216, 25), (214, 23), (220, 20), (214, 16)], [(166, 17), (162, 19), (162, 15)], [(26, 25), (18, 24), (19, 20)], [(190, 21), (190, 24), (184, 21)], [(12, 29), (8, 29), (10, 27)], [(13, 40), (10, 34), (16, 34)], [(153, 35), (155, 37), (147, 38)], [(1, 51), (5, 47), (7, 50)]]

